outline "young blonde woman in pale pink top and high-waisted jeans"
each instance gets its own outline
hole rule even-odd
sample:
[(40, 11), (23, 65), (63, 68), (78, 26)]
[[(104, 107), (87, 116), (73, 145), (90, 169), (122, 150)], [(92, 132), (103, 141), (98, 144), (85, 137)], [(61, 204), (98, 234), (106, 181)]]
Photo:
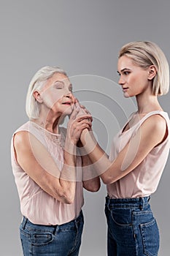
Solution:
[(115, 136), (109, 159), (92, 132), (85, 129), (81, 141), (107, 184), (108, 255), (156, 256), (149, 201), (169, 156), (169, 116), (158, 102), (169, 91), (169, 64), (155, 43), (130, 42), (120, 49), (117, 72), (124, 97), (136, 97), (136, 112)]

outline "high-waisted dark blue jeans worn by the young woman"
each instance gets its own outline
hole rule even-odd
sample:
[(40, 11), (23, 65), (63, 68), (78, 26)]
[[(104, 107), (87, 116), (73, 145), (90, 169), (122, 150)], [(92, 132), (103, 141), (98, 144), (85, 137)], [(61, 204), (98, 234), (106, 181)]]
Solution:
[(159, 231), (150, 197), (106, 197), (108, 256), (157, 256)]

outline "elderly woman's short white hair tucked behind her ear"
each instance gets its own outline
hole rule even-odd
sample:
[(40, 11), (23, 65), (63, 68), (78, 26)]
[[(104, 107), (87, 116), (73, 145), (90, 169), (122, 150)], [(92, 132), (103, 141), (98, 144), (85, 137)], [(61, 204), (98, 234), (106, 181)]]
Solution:
[(34, 98), (34, 91), (42, 89), (47, 80), (52, 78), (55, 73), (66, 75), (66, 72), (60, 67), (46, 66), (39, 69), (31, 79), (26, 96), (26, 114), (28, 118), (39, 118), (40, 104)]

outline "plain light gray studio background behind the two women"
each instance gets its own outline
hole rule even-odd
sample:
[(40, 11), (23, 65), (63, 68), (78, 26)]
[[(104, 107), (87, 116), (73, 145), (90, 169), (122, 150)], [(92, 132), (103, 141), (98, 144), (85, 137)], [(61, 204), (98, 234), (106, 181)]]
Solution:
[[(25, 102), (31, 77), (45, 65), (58, 65), (68, 75), (77, 75), (73, 78), (77, 97), (84, 102), (88, 98), (87, 105), (96, 115), (94, 130), (98, 141), (109, 151), (107, 140), (112, 137), (112, 127), (110, 116), (107, 118), (104, 111), (111, 110), (115, 118), (114, 133), (128, 112), (135, 109), (133, 99), (124, 100), (122, 93), (115, 93), (118, 86), (112, 81), (118, 79), (117, 52), (126, 42), (151, 40), (160, 45), (170, 61), (169, 10), (169, 0), (1, 1), (1, 255), (22, 255), (18, 236), (21, 215), (10, 165), (10, 140), (12, 132), (27, 121)], [(90, 82), (83, 83), (85, 78), (93, 78), (90, 87)], [(169, 100), (169, 94), (160, 98), (167, 112)], [(95, 102), (94, 108), (91, 102)], [(151, 200), (160, 227), (163, 256), (169, 255), (170, 246), (169, 166), (168, 161)], [(105, 195), (103, 185), (96, 194), (85, 192), (81, 256), (107, 255)]]

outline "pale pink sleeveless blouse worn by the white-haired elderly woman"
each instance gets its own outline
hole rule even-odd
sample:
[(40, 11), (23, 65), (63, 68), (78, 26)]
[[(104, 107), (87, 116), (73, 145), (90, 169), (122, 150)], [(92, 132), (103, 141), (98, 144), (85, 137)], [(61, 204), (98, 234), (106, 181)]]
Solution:
[[(20, 211), (34, 224), (39, 225), (61, 225), (75, 219), (81, 211), (83, 206), (82, 195), (82, 179), (77, 181), (76, 193), (74, 203), (61, 203), (54, 197), (50, 196), (42, 188), (40, 188), (18, 165), (15, 159), (15, 152), (13, 147), (13, 137), (16, 132), (28, 131), (31, 132), (50, 152), (51, 156), (58, 165), (59, 170), (63, 166), (63, 148), (66, 135), (66, 129), (61, 127), (61, 134), (53, 134), (46, 129), (39, 127), (32, 121), (23, 124), (12, 135), (11, 143), (11, 159), (12, 171), (15, 176), (15, 183), (18, 188), (18, 195), (20, 198)], [(77, 172), (82, 171), (81, 158), (77, 157)]]

